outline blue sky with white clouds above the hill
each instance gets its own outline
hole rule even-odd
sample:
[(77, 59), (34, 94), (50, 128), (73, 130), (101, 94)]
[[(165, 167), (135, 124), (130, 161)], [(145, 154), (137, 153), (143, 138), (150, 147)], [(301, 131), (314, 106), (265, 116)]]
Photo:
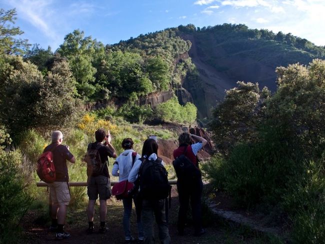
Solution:
[(55, 50), (67, 33), (83, 30), (104, 44), (167, 27), (244, 23), (325, 45), (325, 0), (0, 0), (16, 8), (29, 43)]

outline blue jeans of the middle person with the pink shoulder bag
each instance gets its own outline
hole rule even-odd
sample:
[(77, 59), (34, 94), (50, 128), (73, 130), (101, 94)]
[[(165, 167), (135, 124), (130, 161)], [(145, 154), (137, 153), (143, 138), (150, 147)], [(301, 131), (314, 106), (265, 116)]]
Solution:
[[(131, 239), (131, 230), (130, 230), (130, 216), (132, 211), (132, 198), (123, 198), (123, 208), (124, 208), (124, 215), (123, 215), (123, 228), (124, 228), (124, 235), (125, 240)], [(135, 205), (135, 212), (136, 212), (136, 224), (137, 224), (137, 234), (138, 239), (143, 239), (143, 227), (140, 218), (139, 207), (137, 206), (137, 202), (133, 198), (134, 205)]]

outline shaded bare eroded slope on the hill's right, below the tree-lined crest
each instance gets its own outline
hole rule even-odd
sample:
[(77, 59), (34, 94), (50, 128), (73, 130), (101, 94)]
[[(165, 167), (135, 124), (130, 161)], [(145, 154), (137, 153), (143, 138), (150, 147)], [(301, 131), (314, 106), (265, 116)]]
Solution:
[(182, 33), (181, 37), (191, 42), (188, 56), (196, 67), (195, 73), (186, 75), (182, 87), (191, 94), (198, 118), (211, 117), (225, 90), (235, 87), (237, 81), (258, 82), (260, 89), (267, 86), (275, 91), (277, 66), (311, 61), (310, 54), (297, 52), (289, 45), (283, 51), (272, 41), (231, 36), (220, 41), (216, 33), (199, 31)]

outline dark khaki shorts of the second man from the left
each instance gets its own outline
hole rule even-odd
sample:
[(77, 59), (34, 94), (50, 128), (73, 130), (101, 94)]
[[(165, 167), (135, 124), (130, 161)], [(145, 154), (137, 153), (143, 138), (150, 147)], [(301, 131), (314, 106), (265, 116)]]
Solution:
[(110, 179), (104, 175), (89, 176), (87, 180), (87, 194), (89, 200), (107, 200), (111, 196)]

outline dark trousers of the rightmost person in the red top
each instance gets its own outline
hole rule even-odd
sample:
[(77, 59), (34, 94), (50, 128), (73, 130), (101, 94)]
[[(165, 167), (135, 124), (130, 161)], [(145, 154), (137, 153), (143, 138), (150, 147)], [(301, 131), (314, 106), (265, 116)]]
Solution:
[(189, 201), (192, 209), (194, 232), (198, 233), (201, 230), (202, 188), (203, 188), (203, 183), (201, 179), (191, 183), (185, 183), (180, 180), (177, 181), (177, 190), (178, 190), (178, 199), (179, 199), (177, 229), (179, 232), (184, 231)]

